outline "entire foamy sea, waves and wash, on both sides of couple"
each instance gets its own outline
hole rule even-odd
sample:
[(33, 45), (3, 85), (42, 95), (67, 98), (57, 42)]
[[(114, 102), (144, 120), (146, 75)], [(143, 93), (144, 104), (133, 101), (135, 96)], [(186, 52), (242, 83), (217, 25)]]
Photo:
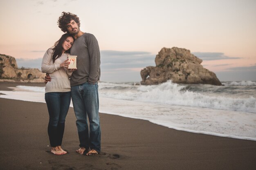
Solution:
[[(100, 82), (99, 111), (176, 130), (256, 141), (256, 82), (135, 84)], [(0, 91), (5, 94), (0, 97), (45, 103), (44, 87), (13, 90)]]

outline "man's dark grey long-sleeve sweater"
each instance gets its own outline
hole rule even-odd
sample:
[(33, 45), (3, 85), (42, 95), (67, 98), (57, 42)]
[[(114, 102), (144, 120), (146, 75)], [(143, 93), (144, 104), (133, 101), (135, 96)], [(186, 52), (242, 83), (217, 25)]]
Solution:
[(84, 33), (74, 41), (70, 55), (77, 55), (76, 68), (70, 78), (71, 86), (76, 86), (88, 82), (95, 84), (98, 82), (100, 69), (99, 44), (94, 35)]

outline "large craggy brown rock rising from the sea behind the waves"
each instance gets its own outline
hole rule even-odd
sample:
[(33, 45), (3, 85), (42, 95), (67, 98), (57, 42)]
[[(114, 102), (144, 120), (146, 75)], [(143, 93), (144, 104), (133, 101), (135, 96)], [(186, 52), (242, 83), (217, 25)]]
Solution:
[(222, 85), (216, 74), (203, 68), (201, 63), (202, 60), (189, 50), (164, 47), (155, 57), (156, 66), (141, 70), (141, 84), (153, 85), (172, 80), (182, 84)]

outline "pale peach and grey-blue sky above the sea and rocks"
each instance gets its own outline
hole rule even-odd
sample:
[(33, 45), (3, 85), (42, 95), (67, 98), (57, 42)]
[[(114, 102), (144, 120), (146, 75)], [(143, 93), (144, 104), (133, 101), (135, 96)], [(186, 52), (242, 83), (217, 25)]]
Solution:
[(163, 48), (189, 49), (221, 81), (256, 80), (256, 0), (1, 0), (0, 53), (40, 68), (63, 32), (61, 12), (81, 20), (101, 50), (101, 81), (139, 82)]

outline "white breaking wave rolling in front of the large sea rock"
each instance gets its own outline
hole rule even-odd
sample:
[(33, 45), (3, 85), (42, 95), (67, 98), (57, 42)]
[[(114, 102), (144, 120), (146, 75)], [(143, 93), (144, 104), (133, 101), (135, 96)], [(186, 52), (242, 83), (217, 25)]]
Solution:
[[(108, 84), (108, 86), (112, 85)], [(125, 84), (119, 84), (119, 86), (126, 87), (126, 89), (129, 88), (129, 85)], [(102, 97), (114, 99), (256, 113), (256, 99), (252, 96), (232, 98), (225, 97), (225, 95), (212, 95), (210, 93), (207, 93), (207, 95), (186, 90), (186, 85), (175, 84), (171, 81), (159, 85), (138, 86), (137, 89), (126, 91), (114, 89), (104, 91), (102, 88), (102, 91), (99, 90), (99, 92)]]

